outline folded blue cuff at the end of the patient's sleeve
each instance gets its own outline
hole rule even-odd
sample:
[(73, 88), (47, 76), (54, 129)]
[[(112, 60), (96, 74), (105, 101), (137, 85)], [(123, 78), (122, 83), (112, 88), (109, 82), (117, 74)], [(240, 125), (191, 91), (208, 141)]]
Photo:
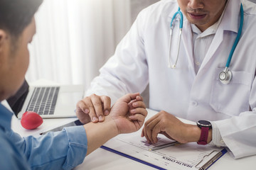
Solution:
[(73, 169), (82, 164), (87, 153), (87, 135), (83, 126), (64, 128), (68, 135), (68, 154), (63, 169)]

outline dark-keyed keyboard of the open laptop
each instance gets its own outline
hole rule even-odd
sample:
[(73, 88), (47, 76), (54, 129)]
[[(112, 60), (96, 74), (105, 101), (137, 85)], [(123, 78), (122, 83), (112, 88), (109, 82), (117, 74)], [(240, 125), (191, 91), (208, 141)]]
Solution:
[(59, 86), (36, 87), (26, 111), (33, 111), (39, 115), (53, 115), (59, 91)]

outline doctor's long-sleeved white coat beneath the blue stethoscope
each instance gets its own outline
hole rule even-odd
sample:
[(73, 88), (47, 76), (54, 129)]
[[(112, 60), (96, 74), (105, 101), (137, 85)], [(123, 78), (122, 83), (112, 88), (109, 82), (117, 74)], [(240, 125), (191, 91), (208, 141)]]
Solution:
[[(213, 121), (235, 158), (256, 154), (256, 6), (249, 1), (242, 1), (242, 36), (229, 67), (233, 78), (227, 85), (218, 79), (238, 33), (240, 3), (228, 1), (198, 74), (193, 63), (191, 25), (186, 17), (177, 67), (168, 67), (170, 23), (178, 9), (176, 1), (149, 6), (139, 13), (86, 95), (107, 95), (114, 102), (124, 94), (144, 91), (149, 84), (149, 108), (188, 120)], [(178, 50), (177, 35), (174, 29), (172, 62)]]

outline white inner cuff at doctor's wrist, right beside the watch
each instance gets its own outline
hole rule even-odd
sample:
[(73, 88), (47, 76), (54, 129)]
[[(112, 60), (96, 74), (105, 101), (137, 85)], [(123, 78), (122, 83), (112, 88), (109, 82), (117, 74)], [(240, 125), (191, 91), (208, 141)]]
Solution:
[(227, 147), (225, 145), (225, 142), (223, 141), (223, 138), (220, 135), (220, 130), (218, 129), (218, 126), (214, 122), (210, 122), (212, 125), (212, 140), (209, 143), (209, 145), (215, 145), (217, 147)]

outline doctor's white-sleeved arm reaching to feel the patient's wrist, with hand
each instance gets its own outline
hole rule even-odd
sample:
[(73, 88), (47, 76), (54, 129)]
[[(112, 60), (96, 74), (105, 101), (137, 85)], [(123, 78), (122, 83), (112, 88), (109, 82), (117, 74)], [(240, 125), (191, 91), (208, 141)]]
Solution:
[(142, 93), (146, 89), (148, 67), (144, 52), (144, 13), (140, 13), (132, 28), (110, 60), (100, 69), (90, 88), (77, 104), (76, 114), (82, 123), (102, 122), (110, 113), (112, 103), (128, 93)]

